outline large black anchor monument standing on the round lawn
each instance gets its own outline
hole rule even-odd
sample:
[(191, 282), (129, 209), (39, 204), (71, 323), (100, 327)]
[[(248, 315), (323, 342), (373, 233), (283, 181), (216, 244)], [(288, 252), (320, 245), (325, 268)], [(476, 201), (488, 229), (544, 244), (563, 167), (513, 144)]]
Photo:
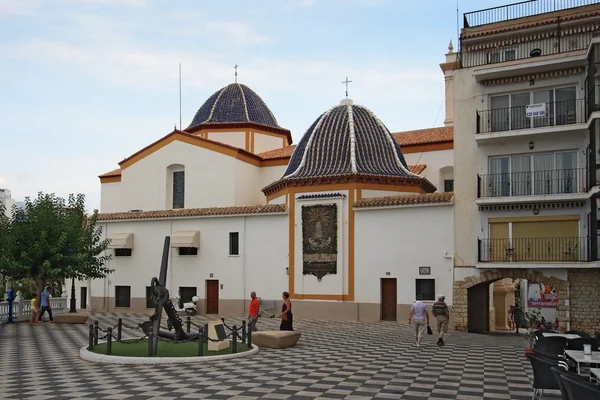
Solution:
[[(158, 279), (152, 278), (151, 285), (151, 299), (156, 305), (154, 314), (150, 317), (150, 320), (139, 324), (140, 328), (144, 331), (148, 337), (152, 338), (152, 354), (156, 354), (158, 349), (158, 338), (162, 337), (170, 340), (194, 340), (198, 337), (198, 333), (186, 333), (183, 329), (183, 322), (177, 314), (171, 298), (169, 290), (167, 289), (167, 267), (169, 264), (169, 250), (171, 247), (171, 237), (165, 237), (165, 244), (163, 247), (162, 262), (160, 264), (160, 274)], [(160, 330), (160, 320), (162, 317), (163, 310), (167, 314), (167, 327), (169, 331)], [(171, 329), (173, 332), (171, 332)]]

